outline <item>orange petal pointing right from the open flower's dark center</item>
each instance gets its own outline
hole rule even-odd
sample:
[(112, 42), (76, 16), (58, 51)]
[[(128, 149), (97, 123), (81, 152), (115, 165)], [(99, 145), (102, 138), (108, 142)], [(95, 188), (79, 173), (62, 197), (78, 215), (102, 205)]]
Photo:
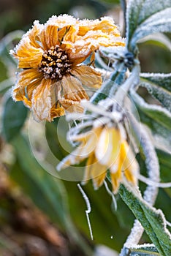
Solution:
[(72, 75), (75, 75), (84, 86), (99, 88), (102, 85), (102, 76), (86, 65), (77, 66), (72, 69)]

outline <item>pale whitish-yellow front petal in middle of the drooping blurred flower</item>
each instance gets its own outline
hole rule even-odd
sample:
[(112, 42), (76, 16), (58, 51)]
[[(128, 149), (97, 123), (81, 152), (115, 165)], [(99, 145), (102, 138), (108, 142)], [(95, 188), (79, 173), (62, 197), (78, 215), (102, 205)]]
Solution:
[(121, 148), (121, 134), (115, 127), (104, 127), (96, 145), (96, 158), (110, 167), (117, 161)]

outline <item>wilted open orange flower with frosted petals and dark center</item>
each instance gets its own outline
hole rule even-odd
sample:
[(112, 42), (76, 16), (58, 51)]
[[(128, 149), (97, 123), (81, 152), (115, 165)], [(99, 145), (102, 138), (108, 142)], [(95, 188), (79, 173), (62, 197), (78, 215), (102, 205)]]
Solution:
[(94, 60), (94, 51), (101, 45), (124, 45), (112, 18), (78, 20), (60, 15), (45, 25), (34, 21), (11, 51), (21, 69), (13, 99), (31, 108), (37, 121), (52, 121), (65, 110), (82, 112), (80, 100), (88, 99), (83, 86), (102, 84), (101, 74), (82, 63), (91, 53)]

